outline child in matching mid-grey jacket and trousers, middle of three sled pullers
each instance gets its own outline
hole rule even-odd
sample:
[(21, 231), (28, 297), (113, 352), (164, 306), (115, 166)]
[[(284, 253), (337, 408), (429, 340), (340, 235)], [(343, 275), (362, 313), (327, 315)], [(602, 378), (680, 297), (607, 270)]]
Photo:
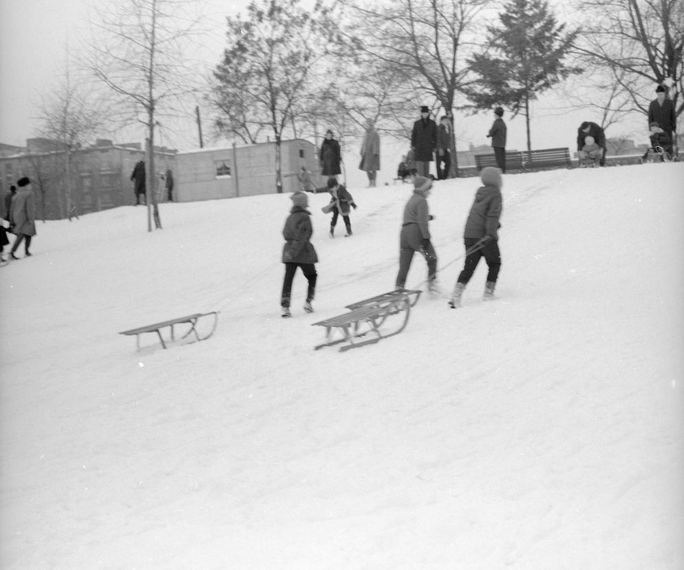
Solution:
[(414, 193), (404, 207), (404, 218), (399, 236), (399, 273), (396, 276), (396, 289), (403, 289), (411, 262), (416, 251), (423, 254), (427, 261), (427, 282), (429, 292), (438, 294), (437, 288), (437, 254), (430, 242), (429, 215), (427, 197), (432, 189), (431, 178), (416, 176)]

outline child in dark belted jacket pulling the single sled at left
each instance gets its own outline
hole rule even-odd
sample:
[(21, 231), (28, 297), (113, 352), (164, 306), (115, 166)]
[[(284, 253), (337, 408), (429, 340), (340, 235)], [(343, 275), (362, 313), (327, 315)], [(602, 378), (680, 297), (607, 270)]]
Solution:
[(307, 210), (308, 198), (303, 192), (295, 192), (290, 198), (292, 199), (292, 209), (283, 228), (285, 245), (282, 261), (285, 264), (285, 278), (280, 297), (283, 317), (292, 316), (290, 313), (290, 297), (292, 296), (292, 279), (295, 278), (297, 267), (301, 268), (301, 272), (308, 282), (306, 303), (304, 304), (306, 313), (314, 312), (311, 302), (316, 292), (316, 279), (318, 277), (316, 266), (314, 266), (318, 262), (318, 256), (310, 242), (314, 230), (311, 224), (311, 213)]

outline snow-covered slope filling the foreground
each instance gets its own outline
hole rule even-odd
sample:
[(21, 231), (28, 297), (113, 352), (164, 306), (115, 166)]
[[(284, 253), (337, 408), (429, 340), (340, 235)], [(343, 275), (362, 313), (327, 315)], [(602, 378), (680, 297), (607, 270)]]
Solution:
[[(310, 196), (292, 319), (289, 196), (39, 224), (0, 269), (0, 567), (681, 569), (683, 175), (505, 176), (500, 299), (480, 266), (350, 352), (310, 325), (392, 288), (408, 185), (352, 188), (348, 239)], [(445, 293), (476, 187), (429, 200)], [(206, 310), (200, 343), (117, 334)]]

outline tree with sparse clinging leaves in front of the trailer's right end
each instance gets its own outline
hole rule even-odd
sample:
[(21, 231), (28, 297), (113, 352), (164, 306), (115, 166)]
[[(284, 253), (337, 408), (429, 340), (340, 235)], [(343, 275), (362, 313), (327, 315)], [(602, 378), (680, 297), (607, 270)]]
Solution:
[(214, 72), (215, 126), (245, 142), (257, 142), (264, 129), (272, 132), (278, 192), (281, 140), (327, 52), (327, 14), (320, 3), (304, 10), (299, 0), (261, 0), (250, 3), (245, 19), (228, 18), (228, 45)]

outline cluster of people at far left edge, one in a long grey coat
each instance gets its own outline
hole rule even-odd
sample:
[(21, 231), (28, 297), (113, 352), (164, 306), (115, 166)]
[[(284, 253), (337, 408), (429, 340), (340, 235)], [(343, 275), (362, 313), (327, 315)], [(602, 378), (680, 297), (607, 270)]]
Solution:
[[(19, 188), (17, 189), (17, 187)], [(4, 223), (0, 224), (0, 260), (6, 261), (2, 253), (5, 246), (10, 243), (8, 233), (17, 236), (14, 238), (8, 260), (19, 259), (15, 252), (22, 242), (25, 257), (30, 257), (32, 255), (30, 252), (31, 241), (36, 235), (36, 206), (31, 180), (28, 176), (19, 178), (16, 187), (14, 185), (10, 187), (10, 191), (4, 197), (0, 207), (2, 207), (1, 218), (9, 224), (7, 228)]]

